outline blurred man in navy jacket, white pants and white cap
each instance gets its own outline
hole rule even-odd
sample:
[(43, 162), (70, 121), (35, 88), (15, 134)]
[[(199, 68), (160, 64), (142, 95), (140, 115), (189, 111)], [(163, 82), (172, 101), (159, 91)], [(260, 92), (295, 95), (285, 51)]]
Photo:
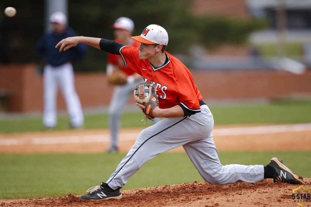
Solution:
[(43, 124), (53, 128), (57, 124), (57, 91), (60, 86), (70, 116), (72, 128), (80, 128), (84, 124), (81, 102), (75, 89), (72, 63), (81, 60), (87, 47), (79, 44), (77, 47), (59, 54), (55, 45), (62, 39), (77, 34), (67, 27), (67, 17), (63, 12), (55, 12), (50, 18), (53, 30), (44, 34), (37, 44), (37, 56), (44, 63), (44, 112)]

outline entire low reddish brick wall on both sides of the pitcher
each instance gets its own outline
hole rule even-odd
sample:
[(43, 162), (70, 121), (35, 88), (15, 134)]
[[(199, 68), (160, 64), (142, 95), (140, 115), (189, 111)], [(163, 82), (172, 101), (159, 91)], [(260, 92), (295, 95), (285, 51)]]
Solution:
[[(292, 93), (311, 94), (311, 71), (303, 75), (278, 70), (193, 71), (193, 78), (205, 101), (221, 99), (274, 98)], [(113, 86), (104, 72), (75, 74), (82, 107), (108, 106)], [(8, 111), (43, 109), (43, 80), (36, 65), (0, 65), (0, 91), (6, 91)], [(2, 90), (2, 91), (3, 91)], [(133, 102), (132, 99), (129, 102)], [(58, 109), (66, 109), (58, 92)]]

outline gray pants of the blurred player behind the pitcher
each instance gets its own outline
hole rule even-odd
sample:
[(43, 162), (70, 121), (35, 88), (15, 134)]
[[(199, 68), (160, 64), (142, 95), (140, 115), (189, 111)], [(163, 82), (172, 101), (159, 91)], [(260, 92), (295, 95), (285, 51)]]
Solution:
[[(132, 98), (134, 103), (134, 89), (139, 83), (143, 83), (143, 79), (139, 79), (134, 83), (124, 84), (121, 86), (115, 86), (114, 92), (109, 104), (108, 114), (109, 114), (109, 128), (111, 133), (111, 148), (118, 147), (118, 132), (120, 129), (120, 118), (123, 113), (125, 106), (130, 98)], [(137, 106), (138, 108), (138, 106)], [(143, 116), (142, 116), (143, 118)], [(160, 118), (155, 118), (152, 121), (153, 124), (160, 121)]]

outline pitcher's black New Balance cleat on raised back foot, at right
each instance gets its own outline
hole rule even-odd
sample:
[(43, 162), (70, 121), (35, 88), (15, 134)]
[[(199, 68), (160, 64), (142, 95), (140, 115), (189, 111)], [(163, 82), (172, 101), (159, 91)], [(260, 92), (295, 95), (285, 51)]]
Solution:
[(301, 177), (298, 177), (296, 173), (291, 171), (291, 169), (283, 163), (283, 160), (273, 157), (267, 166), (273, 170), (273, 182), (287, 182), (290, 184), (305, 183)]

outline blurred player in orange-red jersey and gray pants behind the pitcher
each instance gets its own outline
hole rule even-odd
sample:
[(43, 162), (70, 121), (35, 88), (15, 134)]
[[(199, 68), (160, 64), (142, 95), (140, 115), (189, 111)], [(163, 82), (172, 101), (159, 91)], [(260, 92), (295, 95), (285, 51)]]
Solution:
[[(112, 28), (114, 29), (114, 41), (128, 46), (139, 47), (140, 43), (131, 38), (134, 30), (134, 22), (131, 19), (120, 17), (114, 22)], [(109, 83), (116, 85), (108, 109), (111, 133), (111, 146), (108, 152), (117, 153), (120, 118), (126, 106), (124, 103), (127, 103), (130, 97), (133, 97), (134, 88), (144, 80), (141, 75), (124, 65), (121, 56), (111, 53), (108, 53), (107, 77)], [(121, 77), (124, 77), (124, 81), (120, 80)]]

